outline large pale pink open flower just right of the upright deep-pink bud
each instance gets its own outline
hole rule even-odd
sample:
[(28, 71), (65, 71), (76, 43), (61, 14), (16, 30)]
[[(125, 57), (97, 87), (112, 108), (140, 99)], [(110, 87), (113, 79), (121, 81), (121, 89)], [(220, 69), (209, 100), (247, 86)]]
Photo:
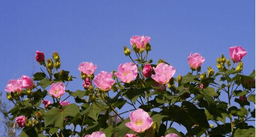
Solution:
[(158, 64), (156, 68), (153, 67), (153, 70), (155, 71), (155, 75), (152, 75), (151, 77), (159, 84), (168, 83), (176, 71), (173, 66), (165, 63)]

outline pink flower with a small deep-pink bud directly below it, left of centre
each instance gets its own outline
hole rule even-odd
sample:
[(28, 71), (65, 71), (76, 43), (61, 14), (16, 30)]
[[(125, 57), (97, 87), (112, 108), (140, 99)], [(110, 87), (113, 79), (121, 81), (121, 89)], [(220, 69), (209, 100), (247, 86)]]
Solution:
[(83, 74), (86, 74), (87, 76), (91, 76), (94, 73), (96, 68), (97, 68), (97, 65), (93, 65), (92, 62), (82, 62), (78, 66), (78, 70)]

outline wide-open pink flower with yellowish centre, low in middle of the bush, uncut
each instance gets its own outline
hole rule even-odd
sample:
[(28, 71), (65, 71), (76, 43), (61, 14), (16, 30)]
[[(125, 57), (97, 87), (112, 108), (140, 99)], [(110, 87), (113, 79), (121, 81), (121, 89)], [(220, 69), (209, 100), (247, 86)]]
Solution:
[(144, 132), (153, 124), (153, 120), (148, 113), (141, 108), (131, 112), (129, 118), (130, 122), (127, 122), (125, 125), (137, 133)]

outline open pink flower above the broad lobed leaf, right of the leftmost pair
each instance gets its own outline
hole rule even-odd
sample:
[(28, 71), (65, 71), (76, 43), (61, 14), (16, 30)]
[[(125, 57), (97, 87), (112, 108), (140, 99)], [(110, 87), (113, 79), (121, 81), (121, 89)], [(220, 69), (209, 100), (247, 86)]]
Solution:
[(63, 82), (53, 83), (48, 92), (53, 97), (60, 98), (65, 93), (65, 85)]

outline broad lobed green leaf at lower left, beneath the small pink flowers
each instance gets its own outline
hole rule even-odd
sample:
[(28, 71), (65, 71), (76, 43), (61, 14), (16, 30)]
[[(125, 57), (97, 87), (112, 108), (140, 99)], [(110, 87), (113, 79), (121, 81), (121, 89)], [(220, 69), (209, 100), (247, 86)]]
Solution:
[(44, 114), (45, 127), (53, 123), (55, 126), (63, 128), (64, 118), (74, 117), (77, 113), (79, 113), (79, 108), (75, 104), (64, 106), (62, 111), (59, 108), (52, 108)]

